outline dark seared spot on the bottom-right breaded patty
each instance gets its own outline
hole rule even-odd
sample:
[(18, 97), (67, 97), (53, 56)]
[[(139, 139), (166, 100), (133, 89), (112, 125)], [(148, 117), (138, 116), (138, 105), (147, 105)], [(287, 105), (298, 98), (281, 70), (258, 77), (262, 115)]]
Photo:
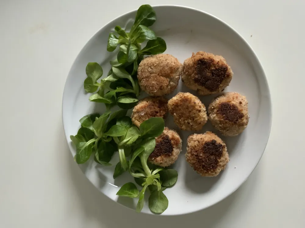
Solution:
[(209, 172), (218, 166), (219, 159), (222, 156), (224, 145), (211, 140), (203, 144), (202, 148), (194, 152), (196, 158), (195, 170), (200, 172)]

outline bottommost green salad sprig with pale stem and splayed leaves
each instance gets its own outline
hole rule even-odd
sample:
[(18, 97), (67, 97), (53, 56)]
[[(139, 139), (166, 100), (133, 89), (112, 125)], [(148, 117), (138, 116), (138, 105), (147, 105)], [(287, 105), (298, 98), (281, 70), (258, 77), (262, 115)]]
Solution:
[(164, 212), (168, 206), (168, 199), (163, 190), (173, 186), (178, 179), (178, 172), (174, 169), (163, 169), (156, 166), (149, 168), (147, 159), (154, 150), (155, 145), (155, 139), (143, 141), (138, 145), (129, 162), (129, 173), (135, 178), (135, 182), (142, 186), (142, 190), (139, 192), (134, 183), (128, 182), (117, 192), (119, 196), (138, 197), (137, 212), (140, 212), (144, 206), (144, 194), (147, 188), (150, 192), (148, 199), (149, 209), (154, 213)]

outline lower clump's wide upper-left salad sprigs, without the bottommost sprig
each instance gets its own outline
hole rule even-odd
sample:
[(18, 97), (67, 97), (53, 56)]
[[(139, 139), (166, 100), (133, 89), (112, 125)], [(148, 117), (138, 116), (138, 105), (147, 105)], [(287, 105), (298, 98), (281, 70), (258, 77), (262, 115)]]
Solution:
[[(76, 146), (75, 161), (78, 164), (85, 163), (94, 153), (95, 161), (110, 166), (113, 153), (118, 151), (120, 162), (116, 165), (113, 178), (127, 171), (129, 162), (126, 157), (132, 150), (137, 151), (138, 147), (147, 146), (147, 140), (154, 141), (164, 130), (164, 120), (159, 117), (150, 118), (138, 129), (126, 113), (127, 109), (121, 109), (112, 114), (108, 111), (102, 115), (93, 113), (81, 118), (81, 128), (77, 135), (70, 136)], [(150, 152), (154, 148), (155, 143), (150, 147)]]

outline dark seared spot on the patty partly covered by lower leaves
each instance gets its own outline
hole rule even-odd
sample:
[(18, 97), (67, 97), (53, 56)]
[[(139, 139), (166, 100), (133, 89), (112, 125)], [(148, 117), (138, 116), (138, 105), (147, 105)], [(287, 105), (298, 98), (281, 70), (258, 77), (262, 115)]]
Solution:
[(161, 137), (159, 136), (156, 139), (156, 147), (149, 155), (149, 158), (153, 160), (161, 155), (170, 156), (173, 150), (174, 148), (168, 135), (162, 134)]

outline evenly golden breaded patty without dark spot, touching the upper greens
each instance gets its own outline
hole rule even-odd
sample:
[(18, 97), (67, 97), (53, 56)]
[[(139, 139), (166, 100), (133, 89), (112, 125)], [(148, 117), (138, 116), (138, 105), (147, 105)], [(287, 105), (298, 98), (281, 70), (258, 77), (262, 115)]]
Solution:
[(152, 96), (163, 96), (174, 91), (180, 80), (182, 65), (172, 55), (146, 57), (138, 67), (139, 85)]

